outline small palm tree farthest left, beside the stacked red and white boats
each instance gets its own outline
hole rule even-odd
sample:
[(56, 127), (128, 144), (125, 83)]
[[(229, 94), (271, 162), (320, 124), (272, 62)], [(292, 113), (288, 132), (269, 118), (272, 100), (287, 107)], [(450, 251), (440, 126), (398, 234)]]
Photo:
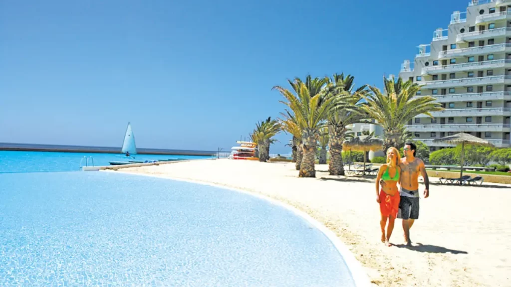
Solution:
[(276, 119), (269, 116), (265, 121), (258, 122), (251, 134), (251, 139), (257, 143), (259, 150), (259, 161), (270, 159), (270, 145), (276, 140), (273, 138), (281, 130), (281, 125)]

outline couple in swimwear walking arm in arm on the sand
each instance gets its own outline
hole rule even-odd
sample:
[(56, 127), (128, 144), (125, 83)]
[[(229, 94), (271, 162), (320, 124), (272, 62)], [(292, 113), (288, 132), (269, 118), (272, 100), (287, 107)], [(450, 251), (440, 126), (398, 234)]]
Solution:
[[(419, 219), (419, 175), (424, 178), (424, 198), (429, 196), (429, 179), (424, 162), (415, 157), (417, 147), (407, 142), (401, 158), (398, 149), (387, 150), (387, 163), (380, 166), (376, 178), (376, 201), (380, 204), (382, 242), (390, 246), (394, 220), (403, 220), (406, 245), (410, 246), (410, 228)], [(399, 183), (399, 189), (398, 189)], [(380, 189), (381, 185), (381, 189)], [(385, 226), (387, 225), (387, 234)]]

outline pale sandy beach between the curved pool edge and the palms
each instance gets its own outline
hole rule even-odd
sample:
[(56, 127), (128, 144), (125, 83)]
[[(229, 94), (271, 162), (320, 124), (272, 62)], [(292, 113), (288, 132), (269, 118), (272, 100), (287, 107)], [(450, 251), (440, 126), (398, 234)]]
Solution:
[(327, 165), (316, 170), (316, 178), (298, 178), (294, 163), (219, 159), (117, 172), (213, 183), (294, 206), (335, 232), (378, 286), (511, 286), (511, 186), (446, 186), (430, 178), (430, 197), (421, 198), (411, 229), (413, 247), (403, 245), (399, 219), (386, 247), (375, 177), (329, 176)]

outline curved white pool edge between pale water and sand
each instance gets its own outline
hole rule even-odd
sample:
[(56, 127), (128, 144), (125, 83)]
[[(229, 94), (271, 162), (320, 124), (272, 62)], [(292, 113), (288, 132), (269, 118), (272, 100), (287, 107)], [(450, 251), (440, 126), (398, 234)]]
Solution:
[[(112, 170), (102, 170), (102, 172), (113, 172)], [(281, 206), (283, 208), (286, 208), (290, 211), (292, 211), (297, 216), (303, 218), (308, 223), (312, 224), (315, 228), (317, 228), (319, 231), (321, 231), (327, 238), (330, 240), (330, 242), (334, 245), (335, 249), (339, 252), (339, 254), (344, 259), (344, 262), (346, 263), (347, 269), (350, 271), (351, 276), (353, 278), (353, 281), (355, 282), (355, 286), (357, 287), (369, 287), (374, 286), (367, 276), (367, 273), (364, 272), (362, 264), (360, 261), (355, 258), (355, 255), (350, 251), (349, 248), (346, 247), (346, 245), (340, 240), (340, 238), (328, 227), (323, 225), (321, 222), (315, 220), (312, 218), (307, 212), (301, 211), (298, 208), (289, 205), (287, 203), (284, 203), (282, 201), (279, 201), (277, 199), (273, 199), (271, 197), (265, 196), (263, 194), (257, 193), (257, 192), (249, 192), (248, 190), (243, 190), (236, 187), (231, 187), (227, 185), (207, 182), (207, 181), (199, 181), (199, 180), (193, 180), (193, 179), (183, 179), (183, 178), (173, 178), (170, 176), (163, 176), (163, 175), (153, 175), (153, 174), (142, 174), (142, 173), (130, 173), (126, 171), (118, 171), (123, 174), (129, 174), (129, 175), (140, 175), (140, 176), (147, 176), (147, 177), (154, 177), (154, 178), (162, 178), (162, 179), (170, 179), (170, 180), (177, 180), (177, 181), (184, 181), (184, 182), (190, 182), (190, 183), (196, 183), (196, 184), (202, 184), (202, 185), (210, 185), (214, 187), (224, 188), (233, 190), (235, 192), (244, 193), (250, 196), (255, 196), (257, 198), (266, 200), (270, 202), (271, 204), (275, 204), (278, 206)]]

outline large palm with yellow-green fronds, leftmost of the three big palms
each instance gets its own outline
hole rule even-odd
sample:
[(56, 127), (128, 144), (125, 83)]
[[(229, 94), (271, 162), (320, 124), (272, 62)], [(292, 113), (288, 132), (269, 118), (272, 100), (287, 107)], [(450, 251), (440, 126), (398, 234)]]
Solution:
[(312, 79), (311, 76), (307, 76), (305, 83), (297, 78), (292, 82), (288, 80), (288, 82), (295, 93), (281, 86), (274, 86), (273, 89), (277, 89), (287, 100), (280, 102), (292, 111), (301, 131), (303, 158), (299, 176), (315, 177), (317, 135), (319, 129), (324, 126), (324, 119), (334, 99), (326, 97), (326, 94), (322, 92), (322, 88), (327, 82), (326, 79)]

